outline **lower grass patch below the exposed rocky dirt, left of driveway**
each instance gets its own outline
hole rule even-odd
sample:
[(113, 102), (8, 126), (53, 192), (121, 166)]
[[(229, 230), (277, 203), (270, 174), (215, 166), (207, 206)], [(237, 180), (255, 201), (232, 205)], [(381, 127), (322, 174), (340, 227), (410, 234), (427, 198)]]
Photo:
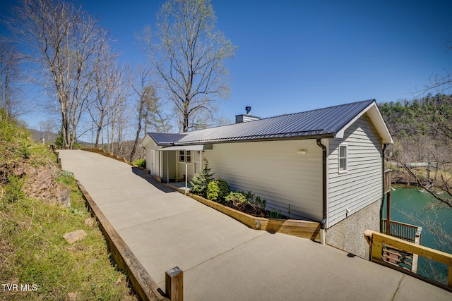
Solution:
[[(75, 180), (59, 178), (71, 189), (71, 208), (21, 197), (1, 199), (0, 283), (35, 285), (37, 290), (5, 292), (0, 300), (136, 300), (126, 276), (112, 264), (99, 228), (84, 225), (90, 217)], [(70, 245), (65, 233), (83, 229), (84, 240)]]

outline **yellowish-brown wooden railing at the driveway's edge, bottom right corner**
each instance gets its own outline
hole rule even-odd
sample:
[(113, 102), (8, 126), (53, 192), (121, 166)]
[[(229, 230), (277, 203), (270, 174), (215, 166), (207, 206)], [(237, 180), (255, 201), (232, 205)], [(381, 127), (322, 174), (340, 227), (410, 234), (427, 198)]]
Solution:
[(418, 256), (432, 259), (436, 262), (440, 262), (441, 264), (446, 264), (448, 266), (447, 285), (448, 289), (452, 289), (452, 254), (434, 250), (422, 245), (417, 245), (413, 242), (408, 242), (406, 240), (401, 240), (400, 238), (394, 238), (390, 235), (371, 230), (364, 232), (364, 238), (366, 238), (369, 243), (369, 254), (372, 262), (383, 264), (383, 247), (385, 245), (389, 245), (399, 250), (404, 250), (405, 252), (417, 254)]

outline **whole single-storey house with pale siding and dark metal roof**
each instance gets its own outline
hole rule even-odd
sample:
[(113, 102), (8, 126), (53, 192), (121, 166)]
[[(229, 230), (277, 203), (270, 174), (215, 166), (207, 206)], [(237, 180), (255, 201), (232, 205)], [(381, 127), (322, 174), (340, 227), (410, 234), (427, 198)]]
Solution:
[[(247, 110), (248, 111), (248, 110)], [(293, 219), (319, 221), (326, 243), (367, 257), (380, 230), (383, 150), (393, 144), (374, 99), (180, 134), (147, 133), (146, 168), (189, 181), (208, 159), (215, 178), (251, 191)]]

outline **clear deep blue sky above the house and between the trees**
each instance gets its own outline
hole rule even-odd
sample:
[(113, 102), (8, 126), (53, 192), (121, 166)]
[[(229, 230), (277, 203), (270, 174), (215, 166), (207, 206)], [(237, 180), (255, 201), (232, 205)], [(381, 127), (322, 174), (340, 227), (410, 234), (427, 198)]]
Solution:
[[(163, 0), (75, 0), (117, 39), (121, 61), (145, 58), (135, 32), (155, 25)], [(1, 0), (1, 7), (6, 3)], [(212, 0), (218, 28), (237, 45), (222, 116), (268, 117), (376, 99), (412, 99), (451, 68), (452, 1)]]

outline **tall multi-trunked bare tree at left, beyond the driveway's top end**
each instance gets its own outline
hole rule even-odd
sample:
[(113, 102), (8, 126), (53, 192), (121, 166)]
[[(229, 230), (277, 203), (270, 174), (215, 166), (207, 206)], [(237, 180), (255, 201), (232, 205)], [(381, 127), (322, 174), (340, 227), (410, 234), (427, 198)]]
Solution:
[(108, 32), (64, 0), (21, 0), (14, 12), (11, 30), (32, 49), (29, 57), (43, 75), (40, 83), (59, 102), (63, 147), (72, 148)]

